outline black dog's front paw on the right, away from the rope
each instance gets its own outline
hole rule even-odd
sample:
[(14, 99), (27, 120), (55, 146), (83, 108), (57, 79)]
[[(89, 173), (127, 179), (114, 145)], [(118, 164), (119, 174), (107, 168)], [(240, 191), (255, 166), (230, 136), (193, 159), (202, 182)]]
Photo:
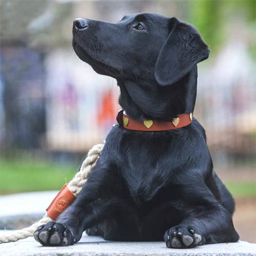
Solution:
[(193, 248), (203, 244), (202, 236), (186, 226), (175, 226), (167, 230), (164, 241), (168, 248)]

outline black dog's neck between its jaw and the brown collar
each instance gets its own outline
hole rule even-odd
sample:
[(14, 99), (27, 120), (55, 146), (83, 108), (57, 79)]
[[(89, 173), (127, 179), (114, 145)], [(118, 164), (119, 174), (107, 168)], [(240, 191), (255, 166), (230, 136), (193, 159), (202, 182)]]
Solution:
[(197, 67), (170, 86), (160, 87), (118, 79), (119, 104), (133, 119), (171, 121), (176, 115), (194, 111)]

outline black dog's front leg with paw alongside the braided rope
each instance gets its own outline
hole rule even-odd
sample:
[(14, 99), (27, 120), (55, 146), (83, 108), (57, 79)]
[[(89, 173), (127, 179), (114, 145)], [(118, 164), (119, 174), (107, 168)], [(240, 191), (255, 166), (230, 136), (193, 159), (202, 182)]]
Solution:
[(98, 224), (118, 203), (115, 191), (115, 172), (97, 164), (76, 200), (57, 218), (56, 222), (41, 225), (34, 233), (44, 246), (67, 246), (78, 242), (82, 232)]

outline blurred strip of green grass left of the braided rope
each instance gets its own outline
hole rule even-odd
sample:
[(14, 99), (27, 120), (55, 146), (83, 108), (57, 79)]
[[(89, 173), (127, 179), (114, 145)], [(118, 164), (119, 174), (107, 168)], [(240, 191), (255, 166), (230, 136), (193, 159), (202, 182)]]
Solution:
[(40, 190), (58, 190), (69, 182), (78, 166), (51, 162), (3, 160), (0, 163), (0, 195)]

